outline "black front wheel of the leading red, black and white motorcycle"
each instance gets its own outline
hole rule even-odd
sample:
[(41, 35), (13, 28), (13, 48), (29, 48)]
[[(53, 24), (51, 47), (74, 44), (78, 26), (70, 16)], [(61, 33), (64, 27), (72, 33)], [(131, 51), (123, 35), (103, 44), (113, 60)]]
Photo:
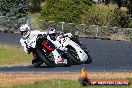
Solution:
[(42, 50), (38, 50), (38, 56), (43, 63), (45, 63), (48, 67), (54, 67), (55, 63), (50, 61), (49, 58), (46, 58)]

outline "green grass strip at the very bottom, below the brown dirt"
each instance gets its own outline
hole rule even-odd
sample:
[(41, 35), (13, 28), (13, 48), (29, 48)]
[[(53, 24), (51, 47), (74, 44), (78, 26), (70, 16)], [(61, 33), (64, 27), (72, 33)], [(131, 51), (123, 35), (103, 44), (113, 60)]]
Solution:
[(81, 86), (79, 81), (75, 80), (49, 80), (43, 82), (35, 82), (34, 84), (16, 85), (11, 88), (132, 88), (132, 85), (126, 86), (103, 86), (103, 85), (89, 85)]

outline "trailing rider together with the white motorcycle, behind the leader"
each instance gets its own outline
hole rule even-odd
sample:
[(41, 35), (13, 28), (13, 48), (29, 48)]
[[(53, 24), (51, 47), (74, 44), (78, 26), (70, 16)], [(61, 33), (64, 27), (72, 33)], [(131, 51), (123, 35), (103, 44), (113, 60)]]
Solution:
[(74, 57), (71, 57), (70, 54), (69, 56), (72, 58), (73, 62), (75, 62), (76, 64), (79, 64), (80, 61), (86, 64), (91, 63), (92, 59), (90, 55), (88, 54), (88, 52), (85, 50), (86, 48), (84, 47), (84, 45), (81, 44), (81, 42), (79, 42), (78, 38), (74, 36), (73, 34), (58, 33), (55, 28), (51, 28), (48, 32), (48, 35), (50, 37), (50, 41), (54, 45), (56, 45), (57, 48), (63, 51), (67, 51), (67, 50), (69, 51), (69, 49), (70, 50), (72, 49), (72, 51), (74, 51), (73, 56), (75, 56), (76, 59), (74, 59)]

